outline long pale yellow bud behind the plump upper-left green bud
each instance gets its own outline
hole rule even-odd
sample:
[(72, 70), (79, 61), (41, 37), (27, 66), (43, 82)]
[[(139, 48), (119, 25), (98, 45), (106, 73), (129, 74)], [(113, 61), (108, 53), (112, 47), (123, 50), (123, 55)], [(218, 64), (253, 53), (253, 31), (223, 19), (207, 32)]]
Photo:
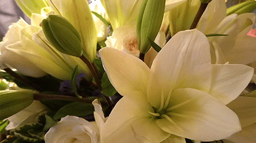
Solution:
[(94, 62), (97, 50), (97, 30), (87, 0), (48, 0), (48, 2), (55, 14), (67, 18), (77, 29), (81, 36), (83, 49), (90, 61)]

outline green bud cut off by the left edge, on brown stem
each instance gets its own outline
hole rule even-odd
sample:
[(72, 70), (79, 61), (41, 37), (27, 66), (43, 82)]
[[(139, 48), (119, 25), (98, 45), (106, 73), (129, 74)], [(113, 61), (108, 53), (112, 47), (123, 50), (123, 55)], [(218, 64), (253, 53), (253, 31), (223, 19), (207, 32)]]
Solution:
[(34, 99), (31, 90), (0, 91), (0, 120), (3, 120), (28, 107)]

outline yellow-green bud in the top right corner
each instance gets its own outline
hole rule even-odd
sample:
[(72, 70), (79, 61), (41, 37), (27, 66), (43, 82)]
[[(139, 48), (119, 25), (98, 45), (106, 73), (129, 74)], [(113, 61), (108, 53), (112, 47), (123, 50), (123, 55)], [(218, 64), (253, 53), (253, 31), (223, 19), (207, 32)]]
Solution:
[(234, 5), (227, 9), (227, 15), (236, 13), (238, 15), (243, 13), (250, 13), (256, 8), (256, 1), (246, 1), (238, 5)]

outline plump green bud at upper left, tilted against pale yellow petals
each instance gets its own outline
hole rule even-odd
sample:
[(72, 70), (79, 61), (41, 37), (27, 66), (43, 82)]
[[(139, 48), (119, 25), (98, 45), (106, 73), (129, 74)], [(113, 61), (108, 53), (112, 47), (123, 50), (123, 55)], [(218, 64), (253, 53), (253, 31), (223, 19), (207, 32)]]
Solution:
[(64, 17), (49, 15), (47, 19), (42, 20), (42, 30), (59, 52), (75, 57), (82, 56), (81, 37)]

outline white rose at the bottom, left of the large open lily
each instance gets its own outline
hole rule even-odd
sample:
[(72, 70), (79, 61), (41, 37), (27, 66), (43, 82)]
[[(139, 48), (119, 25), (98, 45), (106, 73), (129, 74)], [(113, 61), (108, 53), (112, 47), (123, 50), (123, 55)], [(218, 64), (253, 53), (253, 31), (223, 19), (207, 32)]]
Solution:
[(73, 142), (100, 142), (100, 130), (105, 123), (101, 106), (98, 100), (93, 101), (95, 108), (95, 122), (88, 122), (81, 117), (66, 116), (50, 128), (45, 135), (46, 143), (73, 143)]

